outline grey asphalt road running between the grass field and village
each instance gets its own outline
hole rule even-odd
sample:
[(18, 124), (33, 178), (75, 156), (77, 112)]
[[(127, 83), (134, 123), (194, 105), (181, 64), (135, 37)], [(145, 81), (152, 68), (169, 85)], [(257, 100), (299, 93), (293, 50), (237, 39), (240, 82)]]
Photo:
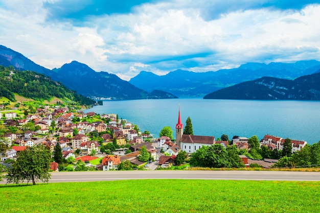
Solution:
[[(55, 172), (50, 183), (85, 182), (129, 179), (208, 179), (208, 180), (288, 180), (320, 181), (320, 172), (279, 171), (97, 171)], [(6, 183), (6, 182), (0, 182)]]

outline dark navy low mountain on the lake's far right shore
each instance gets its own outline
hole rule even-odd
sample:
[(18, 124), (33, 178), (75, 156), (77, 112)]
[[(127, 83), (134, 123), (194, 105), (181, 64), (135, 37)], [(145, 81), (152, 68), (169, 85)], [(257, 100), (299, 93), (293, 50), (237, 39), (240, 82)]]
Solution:
[(320, 73), (294, 80), (262, 77), (214, 91), (203, 99), (320, 100)]

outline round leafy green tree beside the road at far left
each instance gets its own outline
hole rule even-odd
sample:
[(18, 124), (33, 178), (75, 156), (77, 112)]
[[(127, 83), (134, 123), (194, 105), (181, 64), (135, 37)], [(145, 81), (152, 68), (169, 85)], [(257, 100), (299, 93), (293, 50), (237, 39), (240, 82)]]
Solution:
[(17, 154), (12, 169), (8, 172), (7, 183), (23, 182), (27, 180), (35, 185), (37, 180), (48, 182), (50, 179), (49, 169), (51, 152), (44, 146), (30, 147)]

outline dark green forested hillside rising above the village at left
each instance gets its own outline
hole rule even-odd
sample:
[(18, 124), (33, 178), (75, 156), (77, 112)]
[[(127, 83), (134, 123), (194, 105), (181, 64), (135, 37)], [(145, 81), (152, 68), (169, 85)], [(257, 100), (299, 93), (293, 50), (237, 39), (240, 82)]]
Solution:
[(28, 70), (15, 70), (13, 66), (0, 66), (0, 96), (15, 101), (14, 93), (34, 100), (50, 100), (56, 97), (81, 105), (95, 103), (42, 74)]

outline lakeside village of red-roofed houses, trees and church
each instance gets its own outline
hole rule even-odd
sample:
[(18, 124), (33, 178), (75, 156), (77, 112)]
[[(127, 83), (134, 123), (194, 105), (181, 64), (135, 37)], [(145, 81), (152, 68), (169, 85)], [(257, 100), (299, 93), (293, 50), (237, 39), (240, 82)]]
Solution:
[[(234, 136), (229, 140), (227, 135), (216, 139), (214, 136), (186, 134), (180, 120), (180, 109), (175, 140), (170, 137), (173, 133), (170, 127), (167, 136), (163, 133), (164, 128), (159, 138), (153, 138), (148, 131), (142, 133), (138, 126), (119, 119), (117, 114), (70, 111), (66, 106), (43, 106), (21, 114), (4, 111), (3, 105), (0, 109), (1, 138), (10, 146), (1, 156), (1, 162), (9, 168), (17, 153), (39, 145), (51, 150), (52, 171), (155, 170), (171, 169), (180, 164), (187, 165), (187, 168), (189, 165), (270, 168), (281, 157), (289, 157), (307, 145), (306, 141), (272, 135), (265, 135), (259, 141), (256, 136)], [(190, 123), (187, 120), (185, 130), (187, 126), (192, 131), (191, 120)], [(284, 154), (288, 151), (286, 142), (289, 143), (289, 154)], [(220, 161), (227, 159), (223, 159), (223, 163), (203, 162), (199, 157), (201, 152), (216, 154)], [(62, 159), (58, 155), (62, 155)]]

